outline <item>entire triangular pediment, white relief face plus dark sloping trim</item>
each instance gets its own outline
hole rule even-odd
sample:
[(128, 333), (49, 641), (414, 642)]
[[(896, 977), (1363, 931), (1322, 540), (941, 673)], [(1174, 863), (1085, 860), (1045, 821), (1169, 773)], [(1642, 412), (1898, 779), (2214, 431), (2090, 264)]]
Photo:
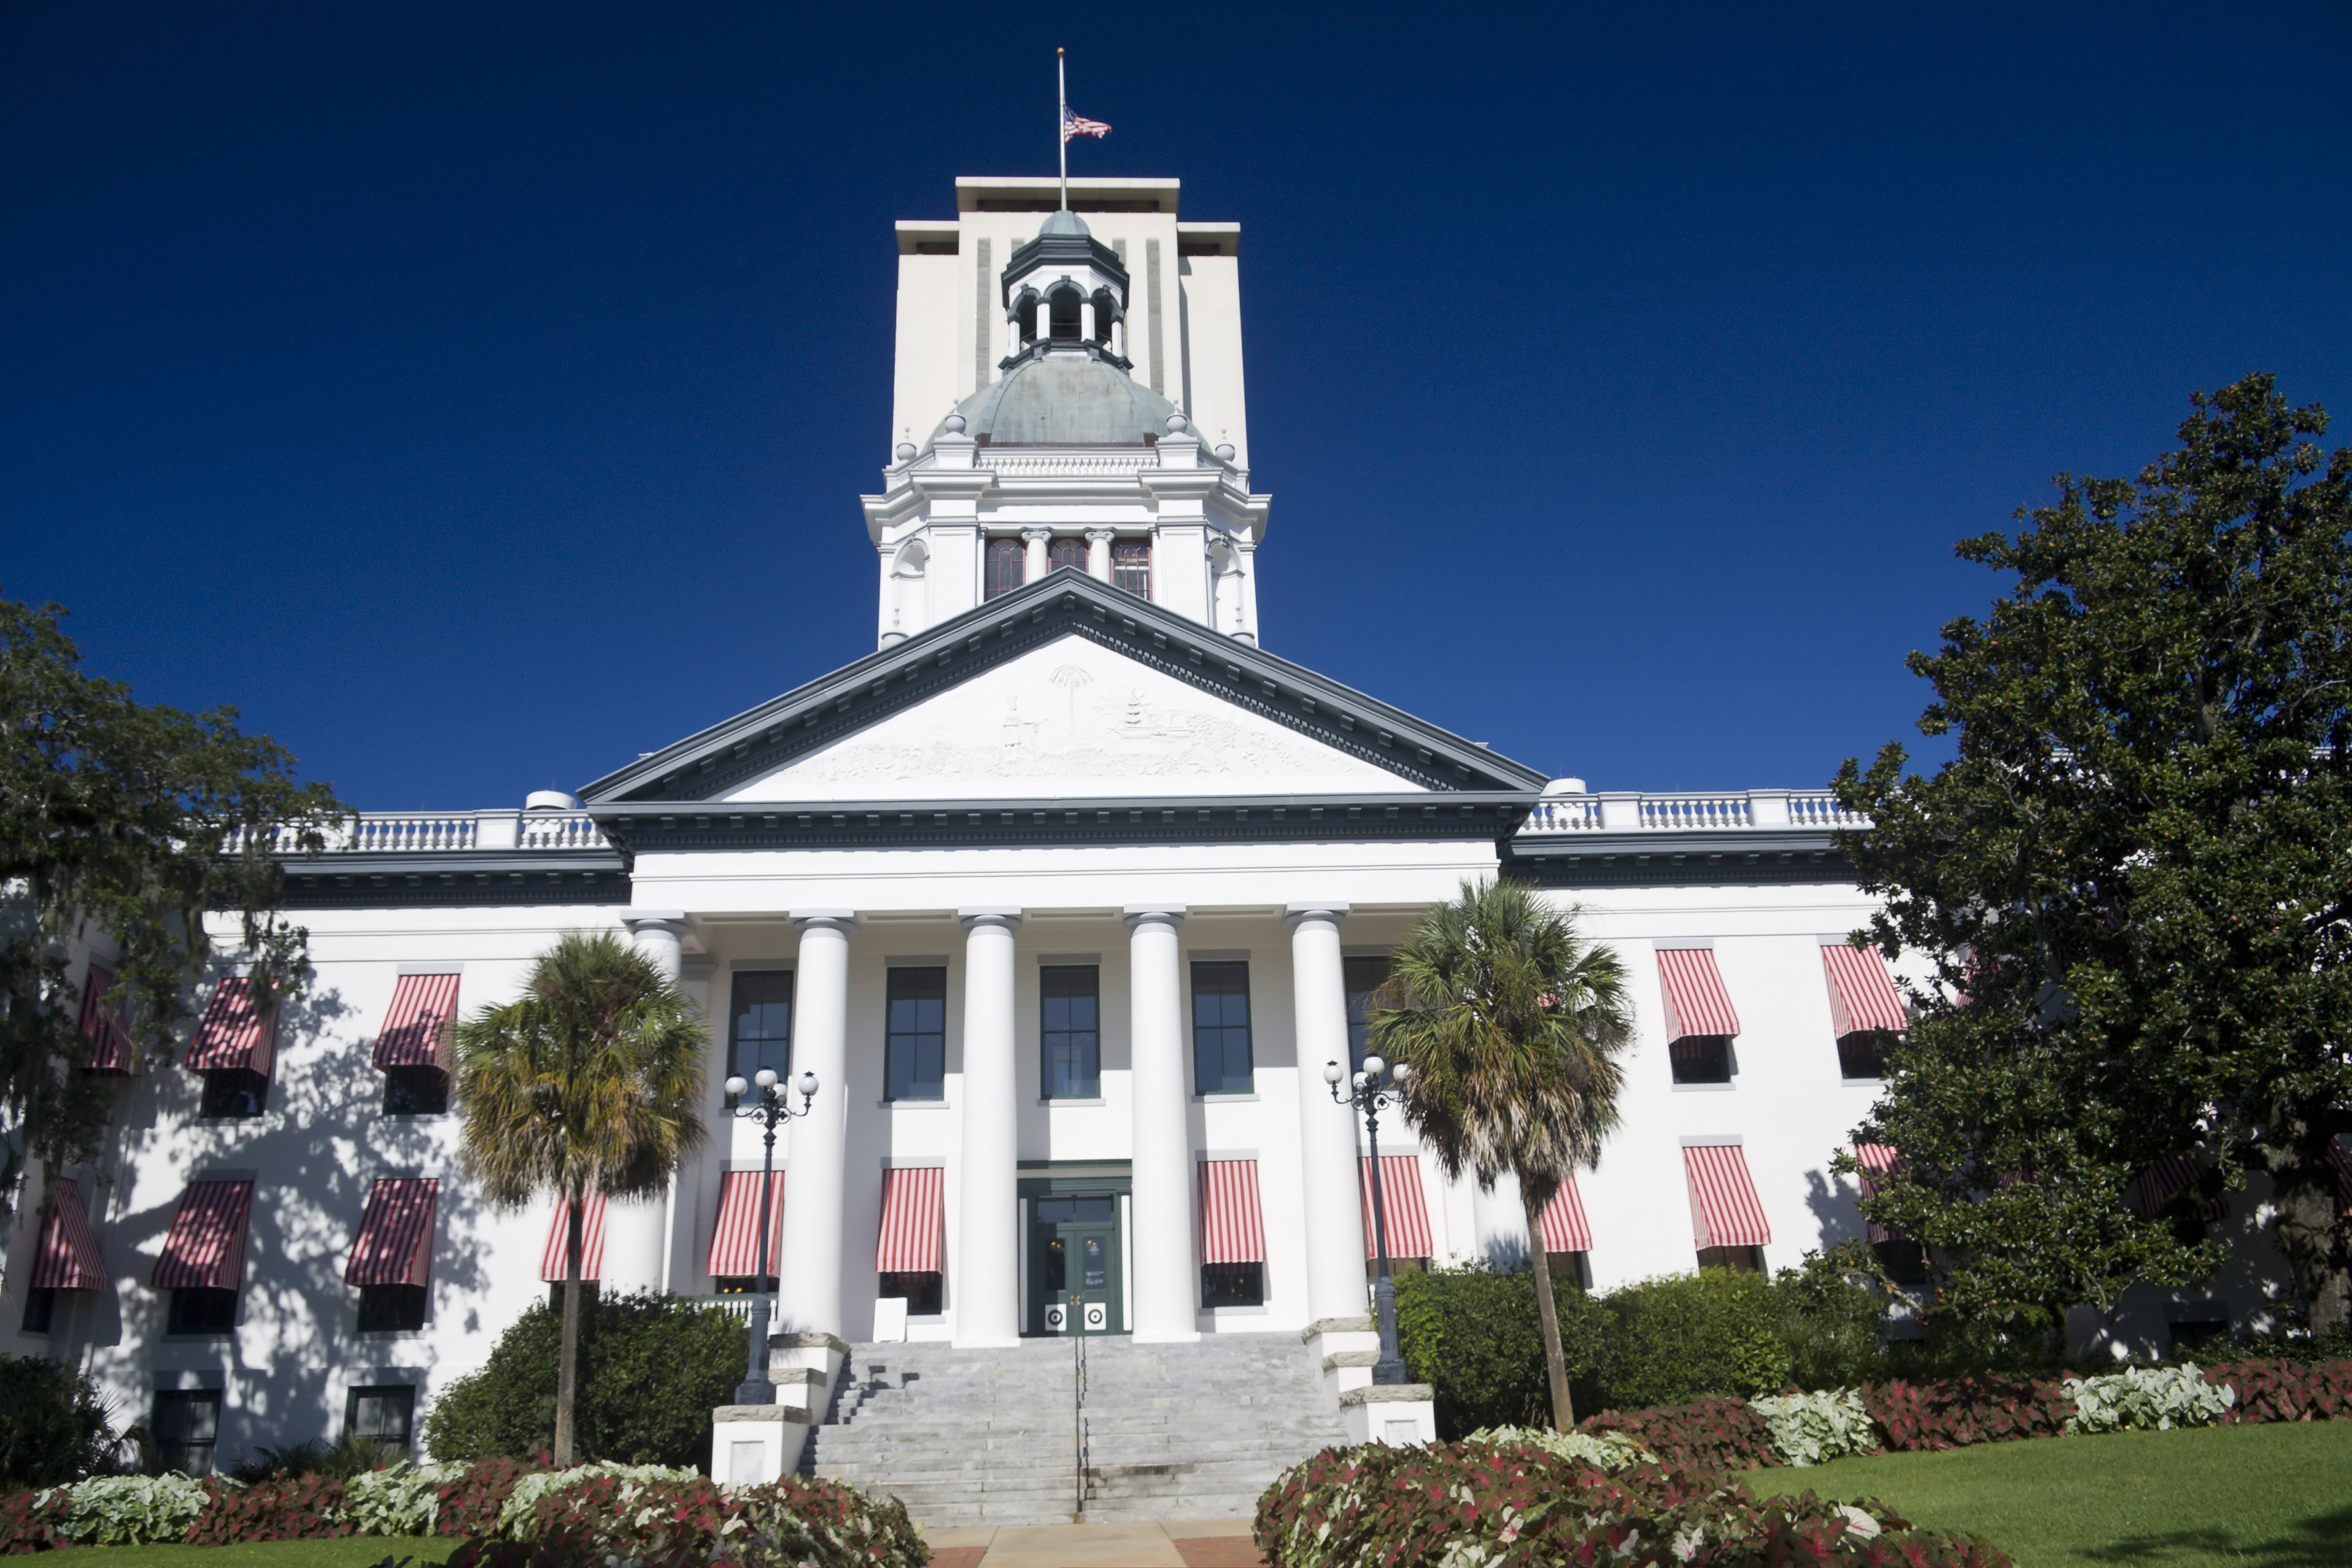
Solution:
[(1526, 792), (1543, 773), (1054, 571), (581, 790), (661, 802)]

